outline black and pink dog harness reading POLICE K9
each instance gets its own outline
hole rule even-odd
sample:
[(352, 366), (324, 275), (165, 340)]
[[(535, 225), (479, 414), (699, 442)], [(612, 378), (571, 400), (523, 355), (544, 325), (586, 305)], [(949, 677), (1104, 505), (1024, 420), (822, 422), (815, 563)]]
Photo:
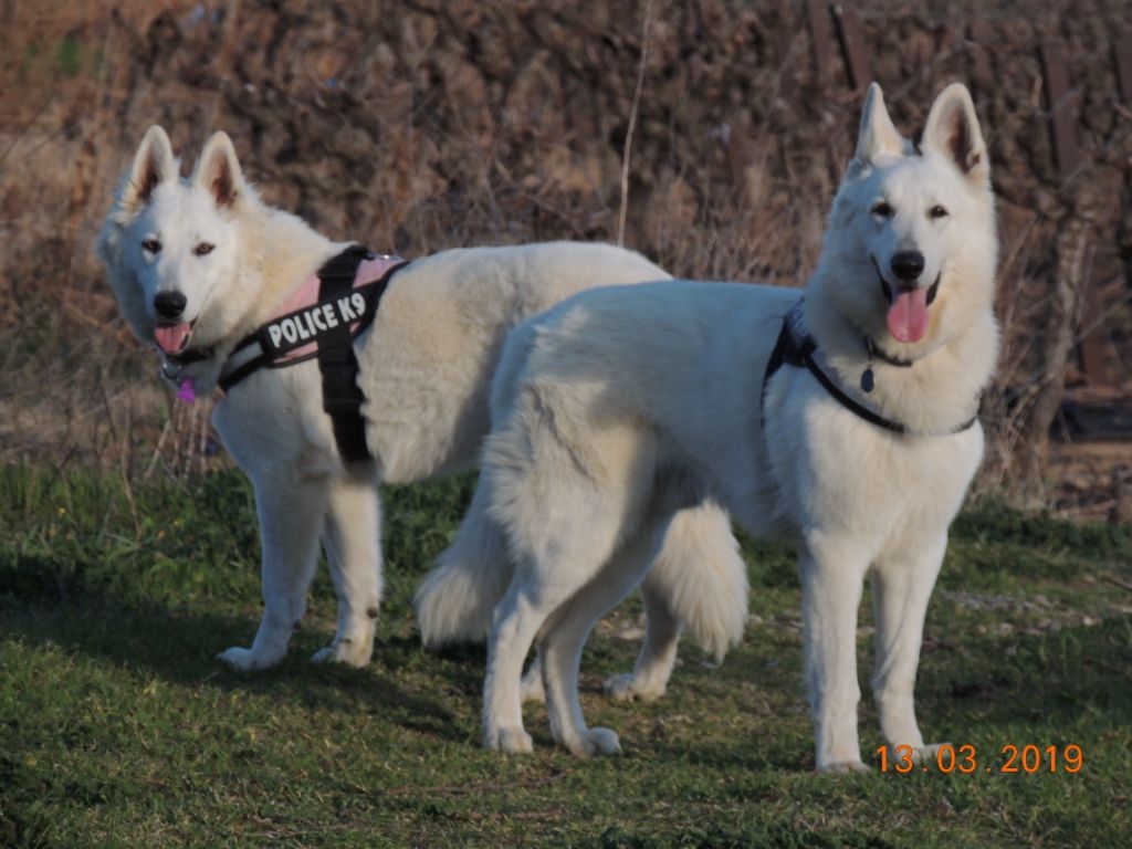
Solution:
[[(338, 452), (346, 462), (369, 460), (353, 342), (377, 317), (389, 280), (408, 264), (360, 245), (331, 258), (317, 273), (317, 302), (277, 316), (245, 336), (221, 370), (220, 387), (231, 392), (265, 366), (285, 368), (318, 358), (323, 410), (333, 422)], [(379, 276), (366, 278), (374, 274)]]

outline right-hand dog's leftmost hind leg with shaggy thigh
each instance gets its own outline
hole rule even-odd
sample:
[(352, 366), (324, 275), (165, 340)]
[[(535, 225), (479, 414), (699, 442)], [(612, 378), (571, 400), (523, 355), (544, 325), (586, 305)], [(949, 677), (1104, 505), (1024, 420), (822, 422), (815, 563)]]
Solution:
[(498, 408), (511, 406), (511, 418), (483, 451), (480, 486), (491, 488), (489, 513), (516, 559), (495, 610), (483, 684), (483, 745), (504, 752), (531, 747), (520, 689), (531, 643), (635, 533), (649, 495), (642, 482), (654, 473), (648, 431), (632, 422), (578, 427), (556, 418), (559, 404), (568, 409), (576, 400), (530, 387)]

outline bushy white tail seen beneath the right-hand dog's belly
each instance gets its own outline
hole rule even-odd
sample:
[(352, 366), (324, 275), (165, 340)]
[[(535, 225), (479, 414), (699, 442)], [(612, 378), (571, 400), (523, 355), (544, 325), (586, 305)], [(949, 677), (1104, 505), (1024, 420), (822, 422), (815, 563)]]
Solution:
[(705, 652), (723, 659), (747, 621), (747, 567), (727, 513), (711, 501), (674, 516), (645, 578)]

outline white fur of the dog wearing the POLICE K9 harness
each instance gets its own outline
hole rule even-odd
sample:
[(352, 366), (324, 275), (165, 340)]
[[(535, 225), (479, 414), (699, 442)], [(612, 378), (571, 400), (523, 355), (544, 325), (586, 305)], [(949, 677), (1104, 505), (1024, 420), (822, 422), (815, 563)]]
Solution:
[[(198, 392), (209, 393), (240, 338), (273, 317), (345, 245), (265, 205), (245, 181), (223, 132), (208, 140), (188, 180), (179, 171), (169, 137), (152, 128), (119, 188), (97, 251), (143, 341), (154, 341), (155, 295), (186, 295), (182, 320), (194, 323), (188, 344), (212, 349), (186, 372)], [(203, 245), (211, 250), (203, 252)], [(338, 624), (333, 644), (314, 659), (369, 662), (381, 595), (378, 481), (417, 481), (474, 462), (488, 428), (490, 377), (508, 328), (591, 286), (668, 276), (632, 251), (572, 242), (448, 250), (415, 260), (393, 277), (375, 324), (355, 344), (372, 463), (341, 462), (315, 361), (260, 369), (234, 387), (216, 406), (214, 421), (255, 484), (265, 607), (251, 648), (221, 657), (240, 669), (283, 658), (303, 614), (321, 538)], [(619, 695), (663, 692), (680, 621), (720, 654), (741, 635), (746, 572), (728, 517), (701, 511), (684, 522), (646, 590), (646, 598), (668, 602), (650, 604), (655, 614), (650, 638), (637, 675), (615, 681)], [(500, 531), (486, 516), (473, 509), (468, 526), (484, 551), (503, 550), (496, 541)], [(681, 569), (663, 568), (674, 559), (683, 561)], [(680, 591), (683, 571), (701, 567), (705, 580), (692, 593)], [(421, 606), (426, 641), (482, 638), (486, 620), (479, 632), (452, 628), (444, 618), (449, 603), (438, 598)]]

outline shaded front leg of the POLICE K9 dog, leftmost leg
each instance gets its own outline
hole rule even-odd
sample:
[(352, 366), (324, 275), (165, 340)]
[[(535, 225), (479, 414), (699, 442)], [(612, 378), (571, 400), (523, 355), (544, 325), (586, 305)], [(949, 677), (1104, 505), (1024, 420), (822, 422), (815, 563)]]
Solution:
[(286, 654), (291, 632), (307, 609), (328, 486), (326, 477), (307, 477), (290, 465), (273, 469), (254, 483), (263, 548), (264, 617), (250, 649), (232, 648), (220, 654), (221, 660), (245, 671), (274, 666)]

